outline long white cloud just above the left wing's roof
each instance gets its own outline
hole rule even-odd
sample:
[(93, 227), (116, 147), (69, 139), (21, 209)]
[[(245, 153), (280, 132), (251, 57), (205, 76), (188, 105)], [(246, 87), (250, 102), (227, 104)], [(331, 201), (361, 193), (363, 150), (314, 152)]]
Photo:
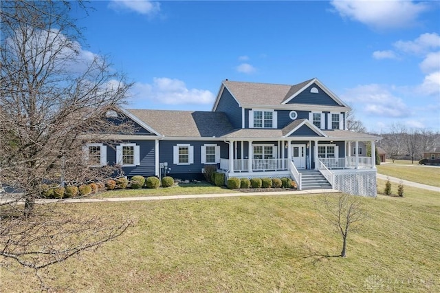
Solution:
[(182, 80), (153, 78), (153, 84), (135, 83), (133, 99), (151, 100), (165, 105), (204, 104), (214, 102), (214, 94), (205, 89), (188, 89)]

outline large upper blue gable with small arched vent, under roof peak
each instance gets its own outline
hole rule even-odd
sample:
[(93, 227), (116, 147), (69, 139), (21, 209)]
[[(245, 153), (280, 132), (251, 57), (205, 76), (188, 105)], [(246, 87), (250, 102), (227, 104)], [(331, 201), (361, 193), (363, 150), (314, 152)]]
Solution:
[(299, 94), (294, 96), (287, 104), (307, 104), (307, 105), (324, 105), (324, 106), (340, 106), (327, 92), (316, 83), (309, 85)]

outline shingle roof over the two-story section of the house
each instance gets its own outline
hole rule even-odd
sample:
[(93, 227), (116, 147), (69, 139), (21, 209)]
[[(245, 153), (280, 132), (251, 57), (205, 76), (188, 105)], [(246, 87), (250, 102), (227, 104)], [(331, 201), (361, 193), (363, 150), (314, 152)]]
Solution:
[(281, 105), (307, 83), (306, 80), (298, 85), (276, 85), (272, 83), (241, 83), (223, 80), (225, 87), (234, 95), (241, 105)]

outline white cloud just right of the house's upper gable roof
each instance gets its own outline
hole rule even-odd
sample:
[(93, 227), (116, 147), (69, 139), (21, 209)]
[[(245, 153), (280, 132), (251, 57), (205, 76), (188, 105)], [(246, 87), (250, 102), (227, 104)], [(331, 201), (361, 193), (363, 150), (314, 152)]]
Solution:
[(391, 91), (382, 85), (359, 85), (349, 89), (342, 98), (360, 105), (358, 111), (366, 117), (401, 118), (410, 115), (404, 101), (394, 96)]

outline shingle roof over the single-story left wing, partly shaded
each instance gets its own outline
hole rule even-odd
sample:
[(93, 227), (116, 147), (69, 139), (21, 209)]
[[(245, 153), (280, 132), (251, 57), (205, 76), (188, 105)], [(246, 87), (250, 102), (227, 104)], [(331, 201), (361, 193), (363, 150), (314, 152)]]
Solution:
[(127, 109), (149, 127), (167, 137), (219, 138), (233, 128), (223, 112)]

